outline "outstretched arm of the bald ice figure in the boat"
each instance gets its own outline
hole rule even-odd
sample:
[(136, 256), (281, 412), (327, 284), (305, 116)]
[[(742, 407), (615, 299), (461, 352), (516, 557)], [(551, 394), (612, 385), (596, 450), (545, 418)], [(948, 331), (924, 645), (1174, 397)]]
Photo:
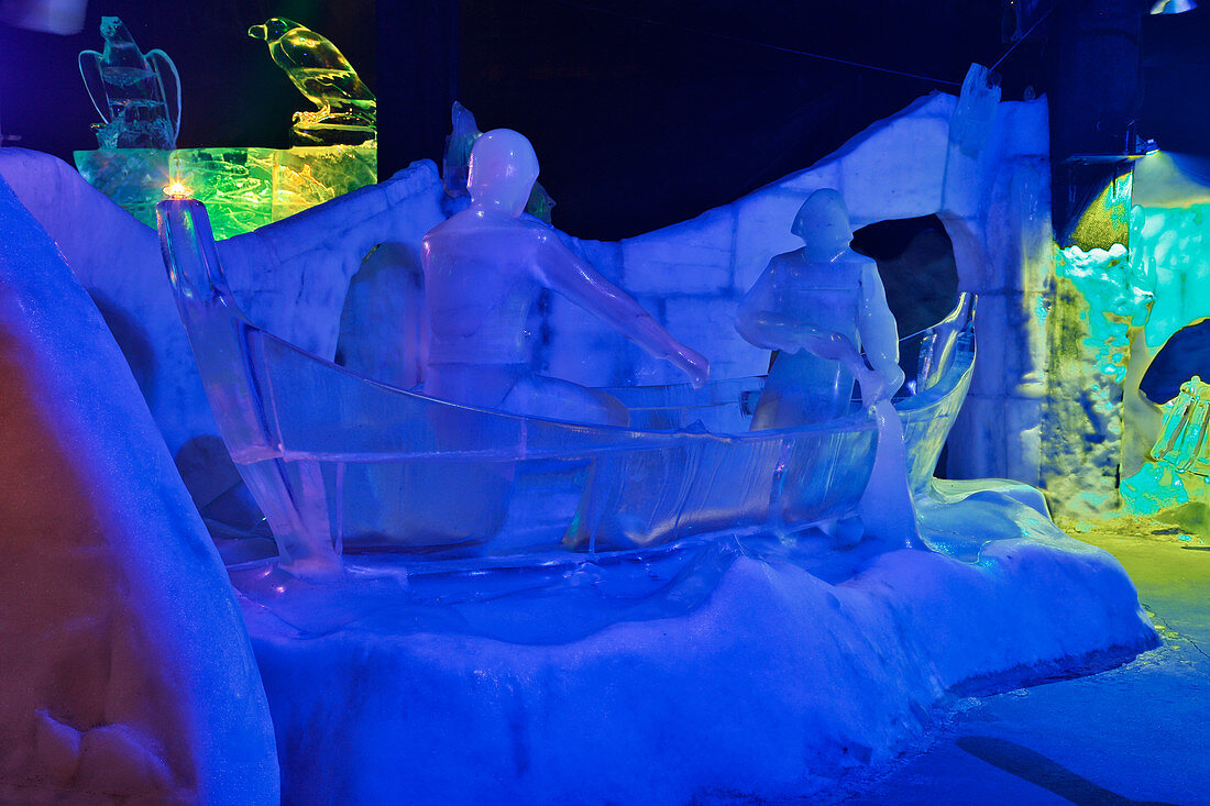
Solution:
[(552, 290), (611, 324), (656, 358), (669, 362), (690, 376), (693, 388), (705, 385), (710, 363), (664, 330), (624, 290), (581, 260), (554, 234), (542, 241), (537, 255), (541, 281)]

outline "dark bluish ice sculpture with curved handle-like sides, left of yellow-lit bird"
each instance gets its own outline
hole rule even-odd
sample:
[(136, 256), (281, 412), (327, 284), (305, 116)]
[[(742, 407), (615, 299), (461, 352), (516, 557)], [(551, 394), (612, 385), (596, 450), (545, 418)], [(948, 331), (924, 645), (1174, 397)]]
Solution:
[[(82, 51), (77, 59), (88, 97), (103, 121), (97, 127), (100, 149), (177, 148), (180, 76), (172, 59), (160, 50), (140, 53), (117, 17), (100, 18), (100, 35), (105, 51)], [(175, 114), (169, 111), (168, 87), (174, 90)]]

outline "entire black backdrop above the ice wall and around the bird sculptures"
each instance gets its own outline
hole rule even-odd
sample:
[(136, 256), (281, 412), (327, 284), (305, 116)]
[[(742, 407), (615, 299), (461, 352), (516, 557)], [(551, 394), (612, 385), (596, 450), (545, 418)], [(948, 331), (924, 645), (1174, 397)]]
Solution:
[[(534, 140), (555, 223), (597, 238), (696, 215), (806, 167), (912, 98), (956, 91), (968, 63), (1008, 47), (1001, 4), (969, 0), (92, 0), (80, 35), (0, 25), (0, 131), (22, 138), (8, 144), (64, 159), (94, 148), (75, 56), (99, 48), (102, 13), (122, 17), (143, 50), (173, 56), (184, 146), (286, 145), (305, 102), (246, 35), (286, 16), (333, 40), (378, 92), (385, 168), (437, 157), (459, 97), (483, 128)], [(1061, 46), (1047, 28), (1001, 67), (1006, 98), (1045, 91), (1047, 57)], [(1147, 18), (1142, 44), (1139, 132), (1210, 152), (1210, 11)]]

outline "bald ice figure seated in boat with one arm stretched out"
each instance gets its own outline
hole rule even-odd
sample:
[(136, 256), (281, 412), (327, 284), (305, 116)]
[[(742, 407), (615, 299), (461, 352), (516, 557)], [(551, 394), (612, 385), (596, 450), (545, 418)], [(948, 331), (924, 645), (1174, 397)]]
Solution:
[(673, 339), (553, 229), (522, 217), (537, 174), (525, 137), (503, 128), (488, 132), (471, 151), (471, 206), (425, 236), (425, 393), (502, 411), (626, 425), (626, 407), (610, 395), (531, 372), (525, 318), (543, 287), (670, 362), (695, 386), (705, 384), (709, 364), (702, 355)]

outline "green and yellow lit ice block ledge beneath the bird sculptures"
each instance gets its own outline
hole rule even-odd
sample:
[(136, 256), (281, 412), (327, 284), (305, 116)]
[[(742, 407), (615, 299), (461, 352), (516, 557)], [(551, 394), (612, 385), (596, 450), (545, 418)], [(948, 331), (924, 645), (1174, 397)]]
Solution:
[(151, 228), (165, 188), (184, 185), (209, 208), (219, 238), (250, 232), (378, 182), (373, 144), (76, 151), (75, 163), (85, 179)]

